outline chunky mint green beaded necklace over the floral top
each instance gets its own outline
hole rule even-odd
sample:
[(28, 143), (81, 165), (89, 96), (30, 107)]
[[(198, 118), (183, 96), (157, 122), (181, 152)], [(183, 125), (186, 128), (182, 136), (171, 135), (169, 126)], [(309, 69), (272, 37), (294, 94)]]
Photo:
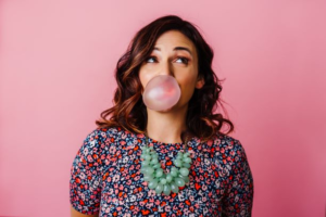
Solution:
[[(146, 131), (146, 144), (141, 146), (141, 174), (143, 180), (147, 181), (149, 189), (154, 189), (158, 194), (162, 192), (170, 195), (171, 192), (178, 193), (179, 187), (184, 187), (189, 182), (189, 168), (191, 166), (190, 153), (178, 152), (177, 157), (173, 161), (174, 165), (170, 173), (164, 173), (159, 162), (159, 154), (153, 150), (153, 146), (148, 146), (148, 136)], [(186, 140), (184, 150), (186, 150), (188, 140)]]

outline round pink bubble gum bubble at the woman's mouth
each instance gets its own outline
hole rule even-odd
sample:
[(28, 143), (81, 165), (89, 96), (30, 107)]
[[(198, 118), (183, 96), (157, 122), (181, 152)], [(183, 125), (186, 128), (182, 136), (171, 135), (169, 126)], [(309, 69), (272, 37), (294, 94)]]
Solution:
[(165, 111), (173, 107), (179, 101), (180, 95), (180, 88), (174, 77), (159, 75), (147, 84), (142, 101), (150, 110)]

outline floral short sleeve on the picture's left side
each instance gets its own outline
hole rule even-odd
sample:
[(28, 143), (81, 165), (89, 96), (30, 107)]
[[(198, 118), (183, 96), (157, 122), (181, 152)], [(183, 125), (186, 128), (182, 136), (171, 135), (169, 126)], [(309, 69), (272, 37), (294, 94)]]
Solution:
[(98, 214), (101, 199), (101, 161), (99, 150), (102, 143), (98, 130), (89, 133), (79, 148), (71, 167), (70, 202), (79, 213)]

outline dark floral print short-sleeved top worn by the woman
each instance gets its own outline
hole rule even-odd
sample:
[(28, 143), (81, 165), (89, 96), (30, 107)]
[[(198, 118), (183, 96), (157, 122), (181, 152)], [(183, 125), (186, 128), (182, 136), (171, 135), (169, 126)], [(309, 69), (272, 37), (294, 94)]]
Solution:
[[(189, 182), (178, 193), (158, 195), (140, 173), (143, 133), (121, 127), (91, 131), (71, 168), (70, 202), (87, 215), (106, 216), (251, 216), (253, 177), (243, 146), (226, 135), (208, 142), (188, 141), (192, 158)], [(170, 171), (181, 143), (149, 138), (162, 168)]]

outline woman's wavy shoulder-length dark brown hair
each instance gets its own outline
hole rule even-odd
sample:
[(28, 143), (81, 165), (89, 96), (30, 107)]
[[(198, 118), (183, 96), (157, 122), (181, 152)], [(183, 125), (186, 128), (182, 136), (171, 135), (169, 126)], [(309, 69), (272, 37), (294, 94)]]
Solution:
[(229, 119), (220, 113), (213, 114), (218, 104), (225, 112), (220, 95), (223, 80), (220, 80), (212, 69), (213, 50), (193, 24), (176, 15), (159, 17), (134, 36), (127, 51), (116, 64), (117, 88), (114, 93), (114, 105), (101, 113), (101, 119), (96, 120), (98, 128), (122, 127), (135, 133), (146, 132), (147, 108), (142, 102), (143, 89), (138, 73), (141, 63), (147, 60), (154, 48), (156, 39), (168, 30), (178, 30), (193, 42), (198, 56), (198, 75), (204, 78), (203, 87), (195, 89), (188, 104), (187, 133), (205, 142), (216, 133), (223, 133), (221, 128), (224, 124), (229, 126), (226, 135), (234, 131), (234, 125)]

